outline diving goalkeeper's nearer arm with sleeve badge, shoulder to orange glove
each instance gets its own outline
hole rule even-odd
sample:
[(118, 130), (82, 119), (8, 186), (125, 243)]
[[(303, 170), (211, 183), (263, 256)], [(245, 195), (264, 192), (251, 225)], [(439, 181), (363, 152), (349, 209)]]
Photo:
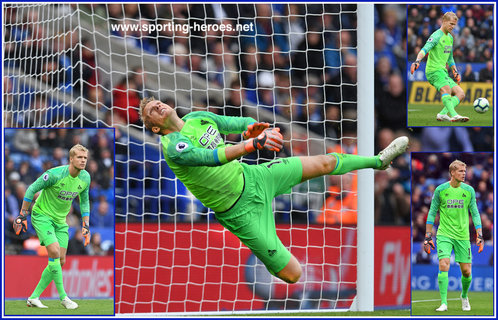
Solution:
[(173, 134), (173, 140), (163, 148), (166, 148), (165, 153), (172, 161), (184, 166), (221, 166), (257, 149), (280, 151), (283, 146), (279, 128), (266, 129), (256, 138), (214, 150), (196, 147), (187, 137), (179, 133)]

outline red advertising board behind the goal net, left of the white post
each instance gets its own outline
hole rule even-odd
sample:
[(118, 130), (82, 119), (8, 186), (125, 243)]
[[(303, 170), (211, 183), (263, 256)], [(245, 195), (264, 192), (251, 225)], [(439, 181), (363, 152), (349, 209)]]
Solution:
[(296, 284), (275, 280), (218, 224), (117, 224), (116, 313), (348, 308), (356, 230), (278, 228), (303, 266)]

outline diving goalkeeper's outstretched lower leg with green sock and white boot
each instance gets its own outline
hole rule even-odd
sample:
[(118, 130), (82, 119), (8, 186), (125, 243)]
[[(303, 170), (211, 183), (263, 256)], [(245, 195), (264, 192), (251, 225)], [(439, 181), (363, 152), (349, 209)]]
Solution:
[(373, 157), (331, 153), (300, 157), (303, 166), (301, 182), (326, 174), (341, 175), (358, 169), (387, 169), (391, 162), (408, 148), (408, 138), (394, 139), (384, 150)]

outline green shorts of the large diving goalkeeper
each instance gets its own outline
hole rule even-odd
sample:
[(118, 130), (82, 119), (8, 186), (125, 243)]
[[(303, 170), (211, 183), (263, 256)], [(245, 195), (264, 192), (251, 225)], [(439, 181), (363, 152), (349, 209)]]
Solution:
[(303, 166), (297, 157), (242, 166), (242, 195), (228, 211), (216, 213), (216, 218), (275, 275), (289, 263), (291, 254), (277, 236), (272, 201), (301, 182)]

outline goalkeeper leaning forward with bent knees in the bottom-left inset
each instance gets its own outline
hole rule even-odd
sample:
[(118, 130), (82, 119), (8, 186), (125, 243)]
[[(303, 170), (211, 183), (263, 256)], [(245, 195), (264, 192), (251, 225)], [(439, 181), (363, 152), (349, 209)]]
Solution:
[(78, 308), (78, 304), (69, 299), (64, 291), (62, 266), (66, 261), (69, 238), (66, 216), (77, 196), (80, 200), (85, 246), (90, 242), (90, 175), (85, 170), (87, 160), (88, 150), (77, 144), (69, 150), (69, 165), (47, 170), (26, 190), (21, 213), (14, 220), (14, 230), (16, 234), (26, 231), (29, 207), (34, 195), (41, 190), (33, 206), (31, 223), (40, 244), (46, 246), (48, 252), (48, 266), (43, 270), (40, 282), (27, 300), (28, 307), (47, 308), (39, 297), (53, 280), (61, 304), (66, 309)]

